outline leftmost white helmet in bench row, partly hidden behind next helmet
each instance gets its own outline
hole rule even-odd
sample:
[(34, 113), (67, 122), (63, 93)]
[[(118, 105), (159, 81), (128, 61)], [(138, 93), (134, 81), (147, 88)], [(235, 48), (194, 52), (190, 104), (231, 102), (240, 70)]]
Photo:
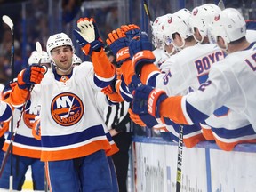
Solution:
[(161, 27), (164, 20), (167, 19), (167, 15), (168, 14), (157, 17), (152, 24), (152, 44), (154, 44), (156, 49), (164, 48), (164, 39), (163, 39), (164, 34)]

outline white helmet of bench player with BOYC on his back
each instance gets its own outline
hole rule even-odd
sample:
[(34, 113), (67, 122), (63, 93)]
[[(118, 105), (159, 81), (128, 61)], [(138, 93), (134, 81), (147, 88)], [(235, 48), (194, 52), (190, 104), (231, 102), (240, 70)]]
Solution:
[[(172, 35), (175, 33), (180, 34), (185, 44), (185, 39), (192, 36), (192, 32), (188, 25), (188, 20), (191, 12), (188, 9), (181, 9), (178, 12), (168, 16), (168, 20), (164, 21), (162, 28), (164, 30), (164, 41), (171, 44), (173, 41)], [(184, 44), (181, 46), (183, 47)]]

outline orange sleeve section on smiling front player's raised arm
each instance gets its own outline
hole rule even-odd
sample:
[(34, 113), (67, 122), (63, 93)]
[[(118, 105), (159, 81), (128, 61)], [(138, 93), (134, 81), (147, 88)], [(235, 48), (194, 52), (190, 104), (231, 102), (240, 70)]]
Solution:
[(115, 76), (116, 69), (108, 60), (103, 49), (100, 52), (92, 52), (92, 64), (97, 76), (111, 78)]

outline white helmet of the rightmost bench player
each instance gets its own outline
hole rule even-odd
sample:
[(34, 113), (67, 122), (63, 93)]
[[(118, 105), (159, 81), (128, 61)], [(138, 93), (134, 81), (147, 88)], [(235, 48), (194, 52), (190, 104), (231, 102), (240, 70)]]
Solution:
[(209, 32), (213, 43), (216, 43), (218, 36), (221, 36), (228, 47), (228, 43), (246, 35), (246, 23), (240, 12), (234, 8), (227, 8), (215, 15), (211, 21)]

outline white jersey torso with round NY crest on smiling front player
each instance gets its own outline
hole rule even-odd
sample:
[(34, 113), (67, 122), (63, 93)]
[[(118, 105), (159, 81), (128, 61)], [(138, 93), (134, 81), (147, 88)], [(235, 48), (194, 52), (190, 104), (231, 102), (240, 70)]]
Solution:
[(31, 100), (41, 106), (41, 141), (43, 161), (58, 161), (88, 156), (97, 150), (110, 149), (104, 121), (95, 99), (100, 88), (92, 62), (73, 69), (72, 76), (59, 76), (51, 69), (41, 84), (31, 92)]

